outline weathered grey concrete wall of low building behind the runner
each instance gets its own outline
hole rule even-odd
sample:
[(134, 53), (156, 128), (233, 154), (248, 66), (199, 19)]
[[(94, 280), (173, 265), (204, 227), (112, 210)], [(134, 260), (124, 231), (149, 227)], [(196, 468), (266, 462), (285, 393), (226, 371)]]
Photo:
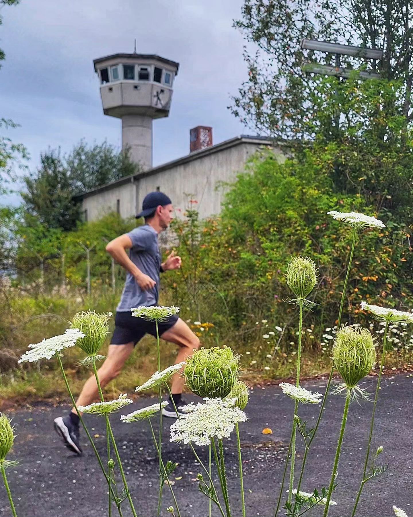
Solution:
[[(178, 217), (188, 208), (186, 194), (192, 194), (198, 202), (195, 206), (200, 219), (219, 214), (225, 189), (217, 190), (217, 184), (219, 181), (232, 183), (236, 175), (243, 172), (247, 159), (260, 147), (259, 143), (243, 141), (212, 153), (205, 153), (203, 149), (198, 151), (197, 159), (177, 160), (167, 169), (161, 166), (160, 172), (154, 169), (153, 173), (135, 178), (135, 185), (114, 185), (103, 192), (88, 195), (83, 200), (83, 210), (88, 210), (89, 221), (97, 219), (116, 210), (116, 200), (120, 199), (121, 216), (134, 216), (140, 210), (145, 195), (159, 188), (171, 198)], [(283, 159), (280, 149), (276, 149), (276, 153)]]

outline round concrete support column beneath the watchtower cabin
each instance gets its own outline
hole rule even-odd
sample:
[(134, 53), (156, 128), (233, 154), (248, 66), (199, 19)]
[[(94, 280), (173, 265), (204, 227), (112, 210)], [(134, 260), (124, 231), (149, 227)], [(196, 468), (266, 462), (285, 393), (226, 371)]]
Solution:
[(122, 149), (129, 148), (130, 158), (147, 171), (152, 167), (152, 117), (122, 116)]

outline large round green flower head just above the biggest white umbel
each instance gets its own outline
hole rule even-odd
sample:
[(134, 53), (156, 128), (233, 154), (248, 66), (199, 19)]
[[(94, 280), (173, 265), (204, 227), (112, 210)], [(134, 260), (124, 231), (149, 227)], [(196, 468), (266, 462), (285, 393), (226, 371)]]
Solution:
[(231, 348), (201, 348), (186, 360), (186, 385), (199, 397), (224, 399), (238, 377), (239, 356)]

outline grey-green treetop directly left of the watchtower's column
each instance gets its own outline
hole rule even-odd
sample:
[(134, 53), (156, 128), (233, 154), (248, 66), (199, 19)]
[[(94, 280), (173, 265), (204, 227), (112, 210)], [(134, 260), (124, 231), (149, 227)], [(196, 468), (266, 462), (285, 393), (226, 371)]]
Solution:
[(65, 157), (65, 163), (77, 191), (91, 190), (137, 172), (129, 152), (119, 153), (107, 142), (88, 146), (81, 140)]

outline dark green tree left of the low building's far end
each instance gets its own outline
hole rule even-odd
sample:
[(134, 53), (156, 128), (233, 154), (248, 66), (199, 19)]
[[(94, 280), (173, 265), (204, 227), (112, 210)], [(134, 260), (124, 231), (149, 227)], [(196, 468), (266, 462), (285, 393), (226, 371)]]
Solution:
[(22, 192), (29, 215), (50, 229), (72, 230), (80, 219), (80, 207), (73, 201), (73, 182), (59, 151), (49, 149), (40, 157), (40, 168), (24, 178)]

